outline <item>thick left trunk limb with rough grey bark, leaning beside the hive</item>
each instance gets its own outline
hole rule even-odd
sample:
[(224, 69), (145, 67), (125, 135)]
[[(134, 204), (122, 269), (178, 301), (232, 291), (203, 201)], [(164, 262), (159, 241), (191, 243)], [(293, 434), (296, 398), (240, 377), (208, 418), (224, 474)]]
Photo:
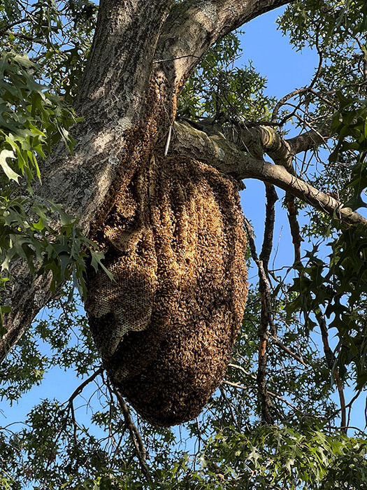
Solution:
[[(43, 185), (35, 190), (78, 216), (85, 235), (96, 215), (106, 214), (117, 177), (129, 174), (139, 158), (149, 123), (146, 99), (154, 50), (172, 4), (173, 0), (101, 1), (77, 102), (85, 120), (74, 127), (74, 153), (62, 145), (55, 148), (41, 169)], [(134, 137), (139, 144), (131, 141)], [(51, 297), (50, 274), (34, 278), (24, 263), (17, 263), (11, 274), (11, 287), (1, 298), (12, 311), (3, 318), (7, 332), (0, 342), (0, 360)]]

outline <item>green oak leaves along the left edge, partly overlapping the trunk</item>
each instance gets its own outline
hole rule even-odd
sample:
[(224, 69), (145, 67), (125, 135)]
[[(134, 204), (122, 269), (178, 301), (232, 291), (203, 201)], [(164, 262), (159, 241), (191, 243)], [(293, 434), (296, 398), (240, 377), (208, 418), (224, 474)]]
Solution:
[[(0, 8), (3, 47), (0, 55), (0, 166), (3, 172), (0, 176), (3, 272), (0, 287), (3, 290), (8, 287), (10, 265), (18, 258), (27, 261), (33, 274), (52, 272), (52, 293), (69, 279), (80, 288), (80, 293), (85, 293), (85, 260), (91, 261), (93, 267), (102, 267), (103, 254), (82, 235), (78, 219), (65, 214), (58, 204), (41, 202), (32, 190), (34, 178), (41, 182), (39, 158), (47, 158), (60, 140), (73, 151), (75, 141), (69, 130), (80, 118), (66, 104), (66, 99), (71, 100), (72, 96), (64, 77), (68, 71), (73, 73), (69, 80), (75, 87), (74, 68), (82, 69), (80, 56), (85, 56), (89, 46), (87, 33), (92, 34), (95, 11), (94, 4), (85, 1), (70, 1), (63, 6), (53, 1), (23, 4), (10, 0)], [(69, 15), (69, 23), (65, 15)], [(78, 43), (79, 36), (83, 43)], [(69, 41), (75, 45), (71, 50)], [(75, 53), (79, 53), (78, 56)], [(21, 183), (24, 190), (14, 183)], [(20, 194), (24, 195), (20, 197)], [(0, 321), (1, 314), (8, 311), (9, 307), (0, 307)]]

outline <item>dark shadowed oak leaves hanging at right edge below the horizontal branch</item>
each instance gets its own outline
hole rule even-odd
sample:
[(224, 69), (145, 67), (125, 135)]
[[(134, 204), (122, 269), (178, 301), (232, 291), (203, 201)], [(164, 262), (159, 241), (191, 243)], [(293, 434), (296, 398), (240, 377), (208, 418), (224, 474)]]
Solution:
[(357, 389), (367, 382), (366, 247), (364, 234), (348, 229), (331, 243), (328, 263), (317, 257), (316, 247), (307, 252), (308, 260), (298, 265), (299, 275), (289, 288), (296, 298), (287, 304), (289, 314), (303, 312), (310, 329), (322, 316), (329, 319), (329, 329), (336, 328), (339, 338), (335, 363), (343, 375), (347, 365), (354, 365)]

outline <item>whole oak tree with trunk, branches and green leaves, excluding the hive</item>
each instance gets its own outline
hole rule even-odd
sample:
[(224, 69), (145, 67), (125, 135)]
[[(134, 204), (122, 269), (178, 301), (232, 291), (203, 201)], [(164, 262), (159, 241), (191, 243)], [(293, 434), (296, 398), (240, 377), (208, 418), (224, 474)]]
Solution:
[[(319, 66), (307, 87), (275, 101), (251, 65), (234, 65), (235, 30), (287, 3), (280, 28), (296, 48), (315, 48)], [(343, 394), (347, 383), (360, 394), (367, 379), (367, 221), (357, 212), (366, 188), (364, 1), (105, 0), (97, 20), (96, 10), (87, 1), (1, 6), (1, 395), (17, 400), (51, 365), (87, 375), (64, 405), (44, 400), (26, 428), (3, 430), (1, 483), (364, 488), (366, 442), (346, 433), (352, 402)], [(289, 138), (290, 123), (297, 132)], [(303, 152), (312, 159), (301, 160)], [(250, 287), (220, 394), (200, 421), (186, 424), (193, 456), (173, 430), (131, 416), (99, 367), (78, 300), (65, 300), (66, 281), (85, 295), (87, 268), (104, 267), (90, 238), (109, 225), (121, 186), (153, 153), (238, 181), (256, 178), (266, 189), (261, 253), (245, 220), (258, 288)], [(292, 284), (269, 267), (275, 186), (286, 193), (298, 272)], [(302, 230), (298, 212), (309, 216)], [(304, 256), (302, 236), (314, 243)], [(331, 246), (327, 258), (320, 239)], [(103, 251), (108, 260), (108, 246)], [(31, 327), (46, 304), (55, 316)], [(322, 357), (310, 340), (316, 328)], [(41, 353), (37, 339), (53, 356)], [(92, 423), (108, 430), (106, 442), (75, 417), (75, 399), (96, 381), (101, 406)]]

